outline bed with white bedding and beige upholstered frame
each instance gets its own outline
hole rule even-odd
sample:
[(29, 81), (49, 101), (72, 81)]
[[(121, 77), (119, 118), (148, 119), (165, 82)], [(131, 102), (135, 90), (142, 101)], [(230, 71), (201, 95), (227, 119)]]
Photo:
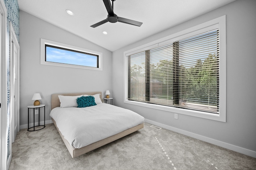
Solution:
[[(79, 96), (94, 96), (97, 105), (84, 108), (68, 105), (64, 107), (62, 98), (66, 100)], [(144, 117), (128, 109), (102, 103), (101, 92), (59, 93), (52, 94), (51, 99), (50, 116), (72, 158), (144, 127)]]

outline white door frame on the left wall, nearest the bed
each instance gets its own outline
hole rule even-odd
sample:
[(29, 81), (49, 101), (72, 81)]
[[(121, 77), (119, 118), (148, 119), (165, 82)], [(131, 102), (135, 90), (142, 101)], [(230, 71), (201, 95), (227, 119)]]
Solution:
[(11, 143), (14, 143), (15, 137), (14, 137), (14, 68), (13, 68), (13, 63), (14, 63), (14, 59), (13, 59), (13, 55), (12, 55), (12, 51), (13, 51), (13, 47), (12, 47), (12, 43), (14, 43), (14, 45), (17, 48), (17, 96), (15, 96), (17, 98), (17, 130), (18, 132), (20, 131), (20, 45), (18, 43), (18, 39), (16, 37), (14, 28), (12, 26), (12, 22), (9, 22), (10, 25), (10, 136), (12, 136), (11, 138)]

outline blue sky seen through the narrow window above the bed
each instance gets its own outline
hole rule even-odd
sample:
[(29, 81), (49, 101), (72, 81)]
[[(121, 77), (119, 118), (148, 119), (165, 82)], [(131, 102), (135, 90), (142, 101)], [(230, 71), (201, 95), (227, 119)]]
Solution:
[(46, 46), (46, 61), (79, 66), (98, 66), (98, 56)]

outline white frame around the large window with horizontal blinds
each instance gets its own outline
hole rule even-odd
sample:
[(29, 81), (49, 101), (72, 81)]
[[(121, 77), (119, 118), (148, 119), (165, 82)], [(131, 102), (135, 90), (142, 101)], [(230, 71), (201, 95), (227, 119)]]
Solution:
[[(200, 33), (204, 33), (206, 31), (210, 31), (213, 29), (219, 29), (220, 35), (220, 85), (219, 85), (219, 114), (207, 113), (204, 111), (195, 111), (189, 109), (176, 108), (171, 106), (162, 106), (157, 104), (149, 104), (137, 101), (128, 100), (128, 69), (127, 69), (127, 56), (147, 50), (153, 49), (155, 47), (160, 47), (162, 45), (166, 45), (168, 43), (172, 43), (174, 41), (178, 41), (180, 39), (184, 39), (186, 37), (191, 37)], [(124, 52), (124, 103), (132, 104), (136, 106), (149, 107), (152, 109), (159, 109), (164, 111), (170, 111), (172, 113), (179, 113), (184, 115), (190, 115), (194, 117), (201, 117), (205, 119), (211, 119), (216, 121), (226, 122), (226, 15), (216, 18), (214, 20), (210, 20), (204, 22), (200, 25), (196, 25), (194, 27), (190, 27), (178, 33), (174, 33), (167, 37), (158, 39), (156, 41), (152, 41), (140, 47), (136, 47), (134, 49), (130, 49)]]

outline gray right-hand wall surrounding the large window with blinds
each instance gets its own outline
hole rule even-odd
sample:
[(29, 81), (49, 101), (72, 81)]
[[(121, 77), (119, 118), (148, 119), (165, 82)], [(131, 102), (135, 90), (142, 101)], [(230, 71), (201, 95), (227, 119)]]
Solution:
[[(226, 123), (124, 104), (124, 51), (226, 15)], [(149, 122), (256, 157), (256, 1), (236, 0), (207, 14), (113, 52), (114, 104)], [(241, 148), (242, 149), (241, 149)], [(241, 149), (241, 150), (240, 150)]]

